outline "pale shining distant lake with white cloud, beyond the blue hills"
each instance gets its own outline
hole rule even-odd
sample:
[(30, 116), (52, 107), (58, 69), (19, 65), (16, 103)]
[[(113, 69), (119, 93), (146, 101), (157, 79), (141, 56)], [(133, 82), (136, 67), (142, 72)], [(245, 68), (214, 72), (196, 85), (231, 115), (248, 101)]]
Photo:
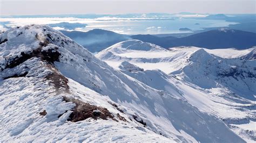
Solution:
[[(62, 23), (62, 24), (59, 24)], [(65, 24), (63, 24), (65, 23)], [(69, 25), (72, 23), (73, 25)], [(77, 17), (2, 17), (0, 18), (0, 28), (4, 26), (23, 26), (27, 24), (51, 24), (57, 30), (70, 30), (68, 27), (75, 27), (71, 30), (89, 31), (95, 28), (102, 28), (121, 34), (169, 34), (188, 33), (191, 31), (180, 31), (179, 28), (189, 28), (192, 31), (203, 30), (207, 27), (224, 27), (229, 24), (225, 20), (209, 20), (184, 17), (97, 17), (97, 18), (77, 18)], [(59, 25), (58, 25), (59, 24)], [(74, 25), (76, 24), (76, 25)], [(86, 25), (81, 27), (81, 25)], [(64, 25), (64, 26), (63, 26)], [(0, 29), (1, 30), (1, 29)]]

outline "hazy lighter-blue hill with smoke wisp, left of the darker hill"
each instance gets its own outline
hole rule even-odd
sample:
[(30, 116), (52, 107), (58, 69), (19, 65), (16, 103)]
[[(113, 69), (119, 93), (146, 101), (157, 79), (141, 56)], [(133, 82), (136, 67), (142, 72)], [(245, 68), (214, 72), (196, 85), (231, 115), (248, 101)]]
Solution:
[(169, 47), (170, 42), (176, 37), (157, 37), (150, 34), (138, 34), (138, 35), (124, 35), (118, 34), (112, 31), (94, 29), (87, 32), (80, 31), (61, 31), (63, 34), (76, 41), (78, 44), (87, 48), (90, 52), (95, 53), (102, 51), (103, 49), (112, 46), (118, 42), (137, 39), (144, 42), (151, 42), (153, 44)]

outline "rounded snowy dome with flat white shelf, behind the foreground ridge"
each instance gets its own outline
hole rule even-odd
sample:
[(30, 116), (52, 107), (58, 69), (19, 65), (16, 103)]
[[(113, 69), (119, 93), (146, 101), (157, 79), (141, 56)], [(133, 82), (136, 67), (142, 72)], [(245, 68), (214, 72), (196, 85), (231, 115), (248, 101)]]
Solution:
[[(136, 44), (134, 44), (134, 42)], [(133, 49), (125, 49), (120, 45), (122, 43), (131, 43), (134, 46)], [(133, 65), (136, 65), (143, 69), (161, 69), (165, 73), (170, 73), (170, 69), (176, 70), (176, 68), (182, 68), (184, 66), (183, 62), (186, 61), (186, 56), (188, 53), (174, 54), (164, 48), (155, 48), (153, 44), (145, 43), (148, 47), (147, 49), (154, 49), (150, 51), (140, 51), (137, 49), (136, 45), (139, 45), (141, 41), (139, 40), (129, 40), (123, 41), (119, 44), (112, 45), (111, 47), (96, 54), (97, 58), (106, 61), (110, 66), (119, 69), (117, 65), (121, 62), (127, 61)], [(143, 45), (145, 45), (143, 44)], [(139, 49), (139, 48), (138, 48)], [(161, 63), (161, 64), (159, 64)], [(172, 64), (171, 64), (172, 63)], [(177, 63), (177, 64), (174, 64)], [(164, 66), (165, 65), (165, 66)], [(168, 65), (168, 66), (166, 66)], [(169, 65), (175, 65), (175, 67), (170, 67)]]

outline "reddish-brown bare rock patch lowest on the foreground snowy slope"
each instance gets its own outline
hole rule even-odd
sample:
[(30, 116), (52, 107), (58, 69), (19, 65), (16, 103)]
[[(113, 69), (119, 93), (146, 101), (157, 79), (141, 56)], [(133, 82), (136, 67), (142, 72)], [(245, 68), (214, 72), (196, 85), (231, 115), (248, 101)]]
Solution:
[(75, 108), (72, 110), (73, 112), (69, 116), (69, 121), (77, 122), (80, 120), (85, 120), (87, 118), (93, 118), (96, 120), (99, 118), (103, 120), (111, 118), (112, 120), (116, 120), (106, 108), (91, 105), (89, 103), (84, 103), (82, 101), (79, 101), (78, 99), (68, 97), (63, 97), (63, 99), (65, 102), (72, 102), (76, 104)]

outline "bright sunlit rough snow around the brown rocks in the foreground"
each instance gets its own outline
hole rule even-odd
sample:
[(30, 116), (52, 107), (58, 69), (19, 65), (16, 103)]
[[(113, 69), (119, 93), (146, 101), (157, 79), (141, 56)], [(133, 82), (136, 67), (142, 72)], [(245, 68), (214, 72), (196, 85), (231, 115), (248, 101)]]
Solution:
[[(64, 112), (74, 105), (63, 102), (62, 95), (55, 95), (53, 90), (54, 87), (48, 81), (37, 77), (2, 80), (1, 141), (111, 141), (117, 133), (123, 134), (123, 138), (117, 141), (170, 141), (147, 129), (143, 132), (134, 128), (134, 125), (118, 124), (111, 120), (67, 122), (70, 111)], [(75, 81), (70, 80), (70, 90), (83, 101), (87, 99), (91, 104), (98, 102), (99, 105), (110, 108), (107, 103), (109, 98), (98, 95)], [(95, 101), (95, 98), (98, 100)], [(39, 115), (44, 109), (47, 112), (45, 117)], [(57, 118), (61, 113), (64, 114)]]

